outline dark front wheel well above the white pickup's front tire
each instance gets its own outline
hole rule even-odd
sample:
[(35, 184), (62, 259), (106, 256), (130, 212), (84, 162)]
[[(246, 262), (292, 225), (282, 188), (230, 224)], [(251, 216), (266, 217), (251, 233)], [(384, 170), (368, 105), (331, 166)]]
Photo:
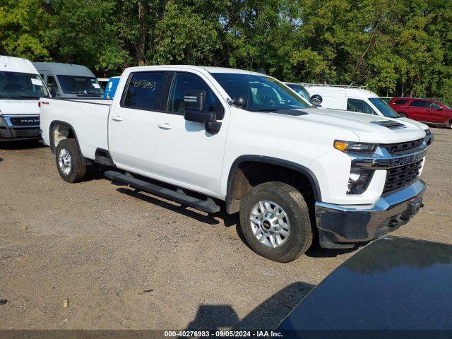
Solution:
[(233, 167), (227, 185), (227, 213), (238, 212), (244, 196), (254, 186), (264, 182), (290, 184), (303, 194), (308, 203), (314, 203), (319, 196), (318, 187), (313, 183), (314, 178), (309, 178), (309, 174), (299, 169), (260, 161), (244, 161)]

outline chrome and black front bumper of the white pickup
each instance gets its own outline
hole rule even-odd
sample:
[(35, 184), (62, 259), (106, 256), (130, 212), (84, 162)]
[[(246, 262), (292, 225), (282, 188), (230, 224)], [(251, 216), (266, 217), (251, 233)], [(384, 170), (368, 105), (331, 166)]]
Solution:
[(373, 205), (340, 206), (316, 202), (319, 242), (324, 248), (350, 248), (406, 224), (422, 207), (425, 183), (418, 179), (399, 191), (383, 194)]

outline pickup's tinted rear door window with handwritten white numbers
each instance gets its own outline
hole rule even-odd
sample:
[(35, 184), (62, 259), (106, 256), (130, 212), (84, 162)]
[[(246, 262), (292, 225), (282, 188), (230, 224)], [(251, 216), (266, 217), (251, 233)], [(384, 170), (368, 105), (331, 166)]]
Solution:
[(122, 107), (160, 109), (167, 72), (149, 71), (131, 73)]

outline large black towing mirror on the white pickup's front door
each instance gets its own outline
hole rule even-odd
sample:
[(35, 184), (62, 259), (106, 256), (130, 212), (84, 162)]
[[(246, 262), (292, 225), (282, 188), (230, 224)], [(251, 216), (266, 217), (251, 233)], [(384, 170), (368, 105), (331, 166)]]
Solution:
[(203, 122), (208, 133), (220, 131), (221, 122), (217, 121), (216, 112), (205, 112), (206, 91), (189, 90), (184, 95), (184, 119), (186, 121)]

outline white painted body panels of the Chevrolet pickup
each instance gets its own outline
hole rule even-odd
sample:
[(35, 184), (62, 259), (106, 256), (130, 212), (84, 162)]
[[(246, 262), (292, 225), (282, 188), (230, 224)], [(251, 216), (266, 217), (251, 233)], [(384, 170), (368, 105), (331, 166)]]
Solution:
[[(371, 121), (384, 117), (330, 109), (307, 108), (292, 116), (275, 112), (249, 112), (227, 102), (231, 98), (211, 73), (249, 73), (234, 69), (198, 66), (143, 66), (126, 69), (117, 93), (123, 93), (133, 71), (186, 71), (201, 76), (225, 108), (218, 134), (206, 133), (203, 124), (162, 112), (124, 109), (121, 95), (111, 107), (74, 100), (47, 100), (41, 108), (41, 129), (49, 144), (52, 121), (66, 121), (76, 131), (84, 157), (94, 159), (95, 150), (109, 150), (121, 169), (162, 182), (225, 199), (232, 164), (242, 155), (274, 157), (302, 165), (316, 176), (321, 198), (326, 203), (342, 205), (372, 204), (380, 198), (386, 171), (374, 174), (364, 194), (347, 195), (350, 157), (333, 148), (333, 142), (362, 141), (398, 143), (424, 138), (425, 133), (409, 121), (404, 129), (391, 130)], [(259, 74), (261, 75), (261, 74)], [(44, 99), (43, 99), (44, 101)], [(129, 112), (134, 111), (134, 112)], [(133, 119), (129, 118), (133, 115)], [(120, 116), (121, 121), (113, 118)], [(169, 124), (171, 129), (159, 125)]]

